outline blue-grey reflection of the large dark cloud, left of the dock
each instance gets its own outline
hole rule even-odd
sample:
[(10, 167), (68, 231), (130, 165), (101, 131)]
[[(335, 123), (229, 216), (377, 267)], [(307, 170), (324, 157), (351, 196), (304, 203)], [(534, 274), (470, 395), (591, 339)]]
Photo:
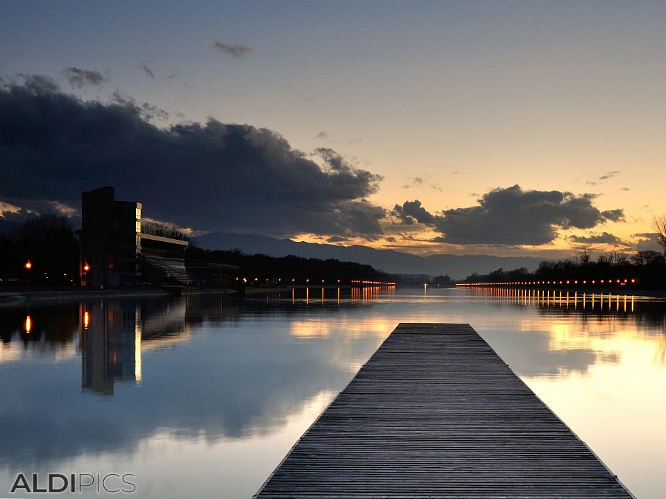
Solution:
[[(183, 308), (184, 301), (89, 304), (89, 326), (82, 337), (113, 347), (107, 352), (119, 359), (136, 357), (140, 362), (138, 376), (136, 363), (116, 369), (116, 364), (102, 362), (101, 369), (110, 376), (134, 374), (142, 381), (138, 386), (119, 384), (112, 397), (80, 393), (76, 358), (59, 365), (35, 360), (31, 369), (3, 372), (0, 399), (12, 403), (0, 406), (0, 465), (133, 453), (140, 441), (164, 431), (208, 442), (271, 435), (294, 414), (309, 410), (310, 403), (321, 405), (318, 397), (330, 399), (341, 389), (352, 376), (350, 362), (364, 362), (389, 327), (378, 321), (364, 329), (340, 310), (326, 309), (316, 315), (328, 324), (320, 327), (298, 312), (291, 315), (291, 305), (257, 305), (240, 320), (238, 302), (223, 306), (213, 297), (198, 298)], [(76, 317), (79, 312), (77, 305)], [(309, 340), (293, 335), (292, 317), (298, 317), (300, 331), (325, 336)], [(104, 324), (108, 333), (96, 334)], [(137, 327), (142, 331), (140, 349)], [(22, 342), (4, 347), (8, 345), (9, 351), (24, 349)], [(62, 348), (75, 345), (70, 340)], [(91, 372), (104, 360), (92, 358), (95, 348), (86, 353), (85, 369)]]

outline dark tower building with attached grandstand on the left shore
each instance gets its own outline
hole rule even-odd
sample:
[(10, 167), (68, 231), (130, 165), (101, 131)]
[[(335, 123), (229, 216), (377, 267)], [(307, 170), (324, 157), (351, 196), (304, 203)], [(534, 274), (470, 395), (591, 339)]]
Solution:
[(82, 194), (83, 286), (123, 286), (142, 279), (189, 283), (183, 259), (187, 241), (142, 234), (141, 211), (140, 202), (116, 201), (113, 187)]

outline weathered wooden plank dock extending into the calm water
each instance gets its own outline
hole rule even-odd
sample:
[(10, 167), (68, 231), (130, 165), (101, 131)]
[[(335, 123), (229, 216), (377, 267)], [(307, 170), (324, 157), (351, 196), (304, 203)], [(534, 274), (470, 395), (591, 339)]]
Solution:
[(632, 498), (468, 324), (400, 324), (256, 498)]

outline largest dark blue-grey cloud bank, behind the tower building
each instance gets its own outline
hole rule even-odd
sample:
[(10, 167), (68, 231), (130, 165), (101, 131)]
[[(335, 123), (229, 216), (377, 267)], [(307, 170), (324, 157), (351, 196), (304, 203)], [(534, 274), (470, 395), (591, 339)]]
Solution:
[[(325, 166), (250, 125), (147, 121), (144, 105), (83, 102), (51, 81), (0, 89), (0, 200), (56, 200), (114, 185), (144, 215), (179, 227), (289, 236), (377, 238), (386, 215), (365, 198), (379, 175), (330, 149)], [(26, 181), (29, 179), (29, 182)]]

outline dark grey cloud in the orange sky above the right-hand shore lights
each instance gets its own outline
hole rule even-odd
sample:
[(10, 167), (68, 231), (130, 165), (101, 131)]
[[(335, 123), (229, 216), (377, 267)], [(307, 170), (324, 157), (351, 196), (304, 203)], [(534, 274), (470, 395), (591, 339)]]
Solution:
[(592, 204), (595, 198), (592, 194), (523, 191), (514, 185), (485, 193), (477, 206), (447, 209), (439, 215), (432, 215), (416, 201), (408, 205), (407, 213), (405, 204), (396, 205), (393, 213), (422, 220), (438, 231), (441, 235), (434, 242), (537, 246), (552, 243), (558, 229), (592, 229), (608, 220), (624, 220), (622, 209), (599, 211)]

